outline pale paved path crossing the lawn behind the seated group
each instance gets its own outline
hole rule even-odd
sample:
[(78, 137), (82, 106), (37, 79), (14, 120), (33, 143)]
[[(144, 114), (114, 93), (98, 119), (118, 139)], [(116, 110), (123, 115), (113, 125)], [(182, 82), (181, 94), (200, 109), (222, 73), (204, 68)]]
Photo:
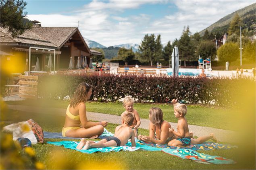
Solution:
[[(24, 106), (24, 105), (8, 104), (8, 108), (13, 110), (26, 111), (26, 112), (39, 113), (39, 114), (54, 113), (61, 116), (65, 116), (65, 113), (66, 113), (66, 109), (43, 108), (43, 107), (39, 108), (39, 107), (31, 107), (31, 106)], [(121, 116), (117, 116), (117, 115), (87, 112), (87, 119), (92, 121), (107, 121), (109, 123), (121, 124)], [(174, 129), (177, 129), (177, 123), (170, 122), (170, 124)], [(149, 125), (148, 119), (141, 119), (140, 128), (148, 129), (148, 125)], [(203, 135), (208, 135), (210, 133), (214, 133), (216, 137), (223, 142), (235, 141), (237, 140), (236, 137), (239, 136), (234, 131), (216, 129), (212, 127), (196, 126), (196, 125), (189, 125), (189, 131), (193, 131), (194, 135), (198, 137)]]

